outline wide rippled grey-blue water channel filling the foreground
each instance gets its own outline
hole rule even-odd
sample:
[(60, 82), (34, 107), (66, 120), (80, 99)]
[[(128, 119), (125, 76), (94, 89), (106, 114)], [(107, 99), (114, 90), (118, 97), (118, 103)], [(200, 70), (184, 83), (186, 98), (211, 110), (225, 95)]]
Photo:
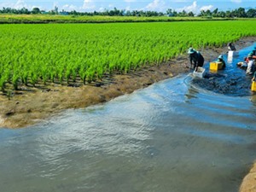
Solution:
[[(214, 78), (247, 79), (235, 67), (248, 49)], [(235, 78), (244, 94), (214, 90), (210, 78), (183, 74), (43, 124), (1, 129), (1, 191), (237, 191), (256, 159), (256, 96)]]

